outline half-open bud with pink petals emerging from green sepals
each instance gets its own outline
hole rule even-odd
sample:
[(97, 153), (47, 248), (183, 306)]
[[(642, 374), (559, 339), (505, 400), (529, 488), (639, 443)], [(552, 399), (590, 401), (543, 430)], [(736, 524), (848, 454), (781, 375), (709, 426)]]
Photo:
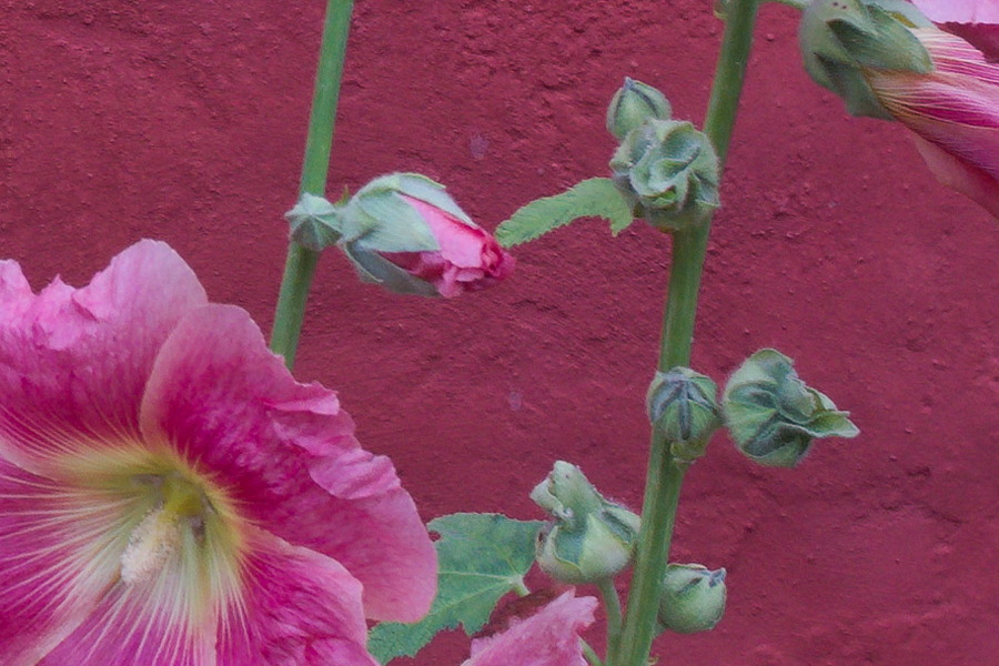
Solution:
[(443, 185), (416, 173), (374, 179), (337, 215), (339, 245), (361, 276), (397, 293), (456, 296), (514, 269)]

